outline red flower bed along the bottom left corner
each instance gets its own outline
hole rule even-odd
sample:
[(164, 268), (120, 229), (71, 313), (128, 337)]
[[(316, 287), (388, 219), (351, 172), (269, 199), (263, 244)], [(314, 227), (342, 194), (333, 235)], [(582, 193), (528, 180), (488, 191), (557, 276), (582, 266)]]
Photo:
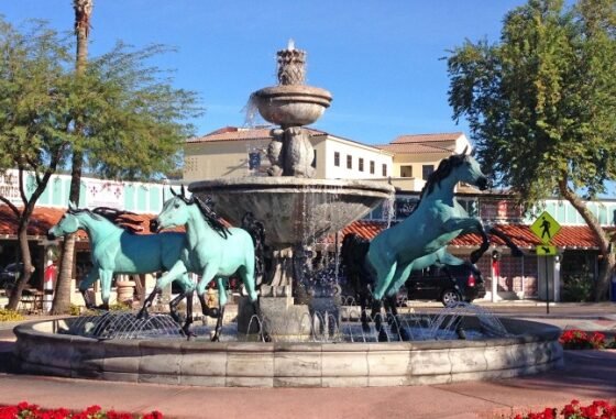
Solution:
[(145, 415), (132, 415), (116, 410), (102, 410), (100, 406), (90, 406), (82, 411), (59, 409), (41, 409), (37, 405), (22, 401), (16, 406), (0, 406), (0, 419), (162, 419), (163, 414), (152, 411)]

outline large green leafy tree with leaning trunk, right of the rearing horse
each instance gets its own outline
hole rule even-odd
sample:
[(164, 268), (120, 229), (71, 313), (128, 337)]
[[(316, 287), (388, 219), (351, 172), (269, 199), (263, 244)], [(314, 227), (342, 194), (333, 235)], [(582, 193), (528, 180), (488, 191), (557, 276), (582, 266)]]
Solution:
[(448, 70), (454, 119), (468, 119), (495, 181), (526, 209), (556, 196), (585, 220), (604, 298), (616, 257), (584, 199), (616, 179), (616, 0), (530, 0), (505, 16), (498, 43), (452, 51)]

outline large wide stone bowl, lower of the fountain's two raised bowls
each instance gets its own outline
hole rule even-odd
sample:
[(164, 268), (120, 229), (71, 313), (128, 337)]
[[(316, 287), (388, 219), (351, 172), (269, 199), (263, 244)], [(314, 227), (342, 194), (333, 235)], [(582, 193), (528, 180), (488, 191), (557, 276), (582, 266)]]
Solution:
[(193, 194), (211, 198), (215, 211), (234, 225), (246, 212), (265, 227), (270, 245), (311, 244), (392, 199), (392, 185), (377, 181), (244, 177), (196, 181)]

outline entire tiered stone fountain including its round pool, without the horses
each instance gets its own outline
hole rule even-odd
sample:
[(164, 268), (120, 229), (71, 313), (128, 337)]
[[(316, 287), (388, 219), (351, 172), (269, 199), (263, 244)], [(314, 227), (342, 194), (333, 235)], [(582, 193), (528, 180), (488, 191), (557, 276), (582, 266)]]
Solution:
[[(394, 189), (312, 178), (312, 150), (302, 126), (321, 115), (331, 95), (304, 85), (304, 64), (305, 52), (289, 43), (278, 52), (279, 85), (251, 96), (263, 118), (279, 125), (268, 146), (270, 176), (189, 186), (232, 223), (240, 225), (248, 213), (263, 223), (270, 266), (260, 286), (264, 318), (240, 300), (237, 322), (223, 326), (221, 342), (210, 342), (201, 327), (195, 329), (205, 338), (186, 340), (158, 315), (141, 321), (122, 313), (22, 324), (15, 328), (22, 371), (133, 383), (332, 387), (506, 378), (562, 363), (558, 328), (497, 319), (472, 305), (438, 316), (402, 316), (397, 328), (406, 328), (413, 340), (377, 342), (376, 331), (362, 330), (359, 310), (324, 293), (328, 287), (315, 286), (315, 243), (391, 199)], [(255, 341), (258, 323), (271, 342)]]

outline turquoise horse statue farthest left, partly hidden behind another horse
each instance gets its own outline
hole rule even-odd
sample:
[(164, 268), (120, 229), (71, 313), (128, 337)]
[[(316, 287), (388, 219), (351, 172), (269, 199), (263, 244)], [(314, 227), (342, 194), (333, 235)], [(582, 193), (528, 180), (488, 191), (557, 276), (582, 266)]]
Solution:
[[(87, 308), (95, 308), (87, 290), (100, 278), (102, 305), (98, 308), (109, 309), (111, 280), (114, 274), (148, 274), (170, 269), (180, 257), (185, 247), (186, 234), (167, 232), (164, 234), (135, 234), (130, 220), (131, 214), (110, 208), (79, 209), (73, 202), (56, 225), (50, 229), (51, 240), (84, 230), (90, 240), (92, 268), (79, 283), (79, 291), (84, 296)], [(193, 307), (194, 283), (186, 273), (174, 277), (183, 289), (183, 296), (189, 298), (187, 310)], [(169, 302), (172, 316), (178, 320), (177, 305), (179, 299)], [(187, 323), (183, 330), (188, 332), (191, 316), (187, 313)]]

